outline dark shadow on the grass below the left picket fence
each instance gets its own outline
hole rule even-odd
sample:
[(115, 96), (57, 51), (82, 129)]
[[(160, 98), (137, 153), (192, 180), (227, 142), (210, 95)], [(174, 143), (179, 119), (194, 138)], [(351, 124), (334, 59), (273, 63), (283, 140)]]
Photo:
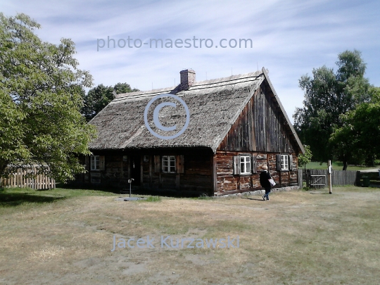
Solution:
[(15, 207), (23, 203), (52, 203), (64, 197), (50, 197), (23, 193), (3, 193), (0, 191), (0, 207)]

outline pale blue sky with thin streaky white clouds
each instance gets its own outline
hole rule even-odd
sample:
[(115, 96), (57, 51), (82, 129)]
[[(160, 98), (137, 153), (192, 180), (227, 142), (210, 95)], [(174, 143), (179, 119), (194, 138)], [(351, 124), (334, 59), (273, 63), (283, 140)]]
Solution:
[[(95, 86), (127, 82), (148, 90), (152, 85), (156, 89), (178, 84), (179, 71), (185, 68), (194, 69), (199, 81), (264, 66), (291, 118), (296, 107), (302, 106), (300, 76), (322, 65), (335, 68), (338, 53), (347, 49), (362, 51), (366, 77), (380, 86), (378, 0), (1, 0), (0, 11), (7, 16), (30, 15), (42, 25), (37, 34), (44, 41), (58, 44), (62, 37), (72, 39), (80, 68), (89, 70)], [(107, 48), (108, 37), (115, 39), (115, 48), (112, 42)], [(213, 47), (118, 47), (118, 40), (127, 37), (147, 43), (149, 39), (174, 42), (196, 37), (212, 39)], [(98, 39), (106, 40), (99, 51)], [(216, 48), (220, 39), (227, 39), (224, 44), (229, 39), (251, 39), (253, 46)]]

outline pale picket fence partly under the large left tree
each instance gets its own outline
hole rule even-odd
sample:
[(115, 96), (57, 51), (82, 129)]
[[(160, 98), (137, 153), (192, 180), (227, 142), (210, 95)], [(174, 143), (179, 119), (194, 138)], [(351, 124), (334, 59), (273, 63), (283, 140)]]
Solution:
[(56, 181), (44, 174), (37, 174), (37, 167), (18, 168), (18, 170), (8, 178), (0, 177), (0, 185), (10, 187), (30, 187), (32, 189), (52, 189), (56, 188)]

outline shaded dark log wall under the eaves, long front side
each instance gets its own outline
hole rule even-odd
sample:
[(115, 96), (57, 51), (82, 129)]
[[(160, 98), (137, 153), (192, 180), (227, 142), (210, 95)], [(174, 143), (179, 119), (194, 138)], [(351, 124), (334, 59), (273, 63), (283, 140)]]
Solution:
[[(127, 188), (128, 179), (134, 178), (132, 186), (144, 189), (213, 195), (213, 153), (210, 150), (94, 151), (94, 156), (104, 157), (104, 170), (89, 170), (87, 166), (89, 173), (76, 179), (77, 182)], [(162, 156), (175, 156), (176, 173), (163, 172)], [(155, 167), (155, 157), (159, 159), (159, 169)], [(183, 165), (178, 164), (179, 159)], [(183, 167), (181, 173), (180, 167)]]

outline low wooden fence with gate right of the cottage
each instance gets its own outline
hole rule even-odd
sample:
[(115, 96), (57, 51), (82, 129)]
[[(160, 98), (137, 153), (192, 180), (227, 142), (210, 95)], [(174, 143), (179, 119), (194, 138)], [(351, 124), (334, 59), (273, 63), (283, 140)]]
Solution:
[[(355, 185), (355, 170), (332, 170), (332, 185)], [(303, 177), (306, 186), (314, 189), (324, 188), (328, 184), (328, 173), (324, 169), (300, 169), (298, 170), (298, 179)], [(301, 185), (301, 184), (299, 184)]]

